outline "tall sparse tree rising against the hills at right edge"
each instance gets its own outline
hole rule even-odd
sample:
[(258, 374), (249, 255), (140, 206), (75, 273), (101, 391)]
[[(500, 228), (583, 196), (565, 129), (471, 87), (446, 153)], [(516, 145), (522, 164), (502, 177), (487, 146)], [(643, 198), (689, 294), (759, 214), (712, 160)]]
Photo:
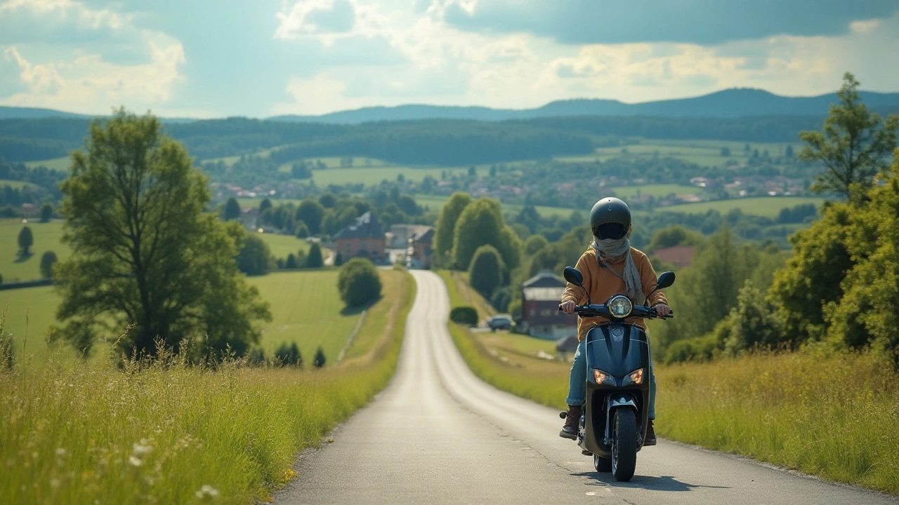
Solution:
[(844, 74), (837, 92), (840, 103), (831, 105), (823, 132), (799, 133), (799, 138), (806, 143), (799, 159), (820, 162), (825, 167), (811, 188), (814, 191), (833, 191), (849, 198), (851, 186), (859, 184), (863, 189), (859, 196), (864, 196), (864, 191), (873, 185), (874, 176), (886, 173), (889, 168), (899, 115), (890, 114), (882, 121), (861, 102), (858, 88), (855, 76), (849, 72)]

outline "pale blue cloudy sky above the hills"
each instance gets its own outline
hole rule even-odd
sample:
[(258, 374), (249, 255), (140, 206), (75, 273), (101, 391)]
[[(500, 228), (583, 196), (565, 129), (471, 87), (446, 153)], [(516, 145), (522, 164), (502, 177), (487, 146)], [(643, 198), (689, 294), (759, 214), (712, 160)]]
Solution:
[(0, 0), (0, 105), (166, 117), (899, 92), (899, 0)]

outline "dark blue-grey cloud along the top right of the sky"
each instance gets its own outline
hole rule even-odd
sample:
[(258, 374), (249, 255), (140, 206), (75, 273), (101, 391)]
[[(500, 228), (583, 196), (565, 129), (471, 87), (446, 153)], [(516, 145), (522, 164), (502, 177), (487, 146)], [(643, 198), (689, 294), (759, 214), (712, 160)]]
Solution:
[(777, 35), (836, 36), (891, 16), (895, 0), (434, 0), (459, 30), (529, 32), (564, 44), (720, 44)]

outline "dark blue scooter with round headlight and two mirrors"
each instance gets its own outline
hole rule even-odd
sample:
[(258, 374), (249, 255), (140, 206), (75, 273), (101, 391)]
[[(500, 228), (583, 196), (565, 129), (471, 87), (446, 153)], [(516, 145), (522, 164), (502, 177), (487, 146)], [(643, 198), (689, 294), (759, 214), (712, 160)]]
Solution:
[[(565, 280), (583, 288), (583, 275), (565, 267)], [(674, 272), (659, 276), (655, 291), (674, 284)], [(586, 289), (584, 289), (586, 291)], [(587, 398), (583, 405), (578, 445), (593, 454), (597, 472), (611, 472), (627, 482), (634, 476), (636, 453), (643, 447), (649, 414), (649, 340), (643, 328), (628, 318), (670, 318), (650, 306), (634, 306), (625, 295), (602, 305), (576, 306), (580, 317), (605, 317), (585, 338)], [(562, 310), (562, 306), (559, 306)], [(561, 417), (565, 417), (565, 412)]]

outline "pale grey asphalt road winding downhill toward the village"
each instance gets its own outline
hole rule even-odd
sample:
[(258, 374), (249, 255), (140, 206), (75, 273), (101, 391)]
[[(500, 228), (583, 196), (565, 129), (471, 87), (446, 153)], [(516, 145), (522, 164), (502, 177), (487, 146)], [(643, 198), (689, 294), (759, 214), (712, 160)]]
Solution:
[(558, 412), (476, 378), (446, 328), (441, 279), (418, 284), (396, 376), (308, 451), (275, 503), (896, 503), (743, 458), (660, 440), (617, 483), (560, 439)]

